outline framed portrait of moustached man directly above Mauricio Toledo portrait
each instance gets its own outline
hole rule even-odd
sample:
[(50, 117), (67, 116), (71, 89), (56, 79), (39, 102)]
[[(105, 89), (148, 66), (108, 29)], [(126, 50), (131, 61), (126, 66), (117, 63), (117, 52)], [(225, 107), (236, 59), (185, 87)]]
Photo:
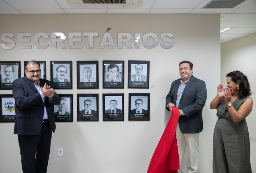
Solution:
[(72, 61), (50, 61), (54, 89), (72, 89)]

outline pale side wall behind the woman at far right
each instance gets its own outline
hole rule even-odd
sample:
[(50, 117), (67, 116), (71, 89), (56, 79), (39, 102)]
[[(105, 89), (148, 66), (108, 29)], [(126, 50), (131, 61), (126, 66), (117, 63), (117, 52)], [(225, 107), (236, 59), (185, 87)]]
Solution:
[(248, 77), (249, 83), (251, 85), (251, 92), (253, 92), (251, 98), (254, 100), (253, 110), (246, 119), (250, 138), (253, 140), (256, 140), (255, 64), (256, 33), (221, 44), (221, 82), (226, 85), (226, 74), (234, 70), (239, 70)]

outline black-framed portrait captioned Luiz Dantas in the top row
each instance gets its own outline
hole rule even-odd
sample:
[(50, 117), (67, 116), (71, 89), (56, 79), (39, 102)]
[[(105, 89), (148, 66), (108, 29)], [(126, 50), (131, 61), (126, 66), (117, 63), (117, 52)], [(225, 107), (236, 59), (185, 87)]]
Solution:
[(124, 88), (125, 61), (103, 61), (103, 88)]

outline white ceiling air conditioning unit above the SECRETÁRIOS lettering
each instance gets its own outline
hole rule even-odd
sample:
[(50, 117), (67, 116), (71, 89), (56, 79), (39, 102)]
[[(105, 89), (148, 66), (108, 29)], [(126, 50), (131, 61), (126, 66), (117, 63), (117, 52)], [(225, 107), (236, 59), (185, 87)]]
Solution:
[(141, 7), (143, 0), (66, 0), (70, 7)]

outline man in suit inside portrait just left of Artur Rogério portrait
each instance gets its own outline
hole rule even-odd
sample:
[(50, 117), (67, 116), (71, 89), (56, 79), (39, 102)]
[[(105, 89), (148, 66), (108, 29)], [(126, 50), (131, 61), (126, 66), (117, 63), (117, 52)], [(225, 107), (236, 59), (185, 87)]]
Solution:
[[(83, 106), (85, 109), (79, 111), (79, 120), (97, 120), (97, 111), (91, 109), (91, 100), (87, 99), (83, 101)], [(91, 115), (91, 116), (88, 116)]]

